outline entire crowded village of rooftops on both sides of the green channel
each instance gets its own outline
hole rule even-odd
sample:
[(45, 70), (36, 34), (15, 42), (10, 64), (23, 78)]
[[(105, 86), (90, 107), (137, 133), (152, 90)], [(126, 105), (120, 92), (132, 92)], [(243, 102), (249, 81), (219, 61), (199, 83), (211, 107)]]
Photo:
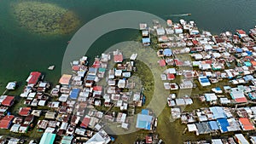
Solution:
[[(154, 20), (153, 24), (153, 28), (148, 24), (139, 25), (142, 44), (147, 49), (153, 46), (152, 38), (157, 39), (155, 56), (159, 61), (152, 62), (166, 67), (159, 78), (163, 81), (162, 86), (170, 91), (170, 95), (163, 95), (163, 98), (171, 107), (172, 118), (181, 119), (182, 124), (187, 125), (186, 131), (195, 132), (195, 135), (255, 130), (256, 28), (248, 34), (236, 30), (234, 34), (224, 32), (213, 36), (211, 32), (200, 32), (195, 21), (172, 23), (167, 20), (166, 26), (162, 26)], [(189, 60), (180, 58), (183, 55), (189, 55)], [(83, 56), (71, 62), (73, 74), (63, 74), (53, 89), (44, 81), (41, 72), (31, 72), (20, 94), (20, 99), (24, 100), (22, 106), (26, 107), (10, 113), (15, 96), (0, 96), (0, 129), (24, 134), (36, 129), (43, 133), (38, 141), (40, 144), (107, 144), (114, 141), (104, 130), (105, 124), (117, 124), (119, 129), (129, 130), (131, 118), (128, 117), (134, 116), (136, 108), (143, 107), (147, 98), (142, 89), (135, 89), (137, 85), (130, 79), (137, 72), (136, 59), (135, 53), (124, 60), (122, 51), (117, 49), (96, 57), (89, 66), (88, 58)], [(176, 78), (181, 81), (177, 83)], [(212, 86), (221, 82), (226, 83)], [(15, 89), (15, 84), (9, 83), (6, 88)], [(207, 103), (208, 107), (181, 112), (180, 107), (193, 105), (195, 98), (191, 95), (177, 97), (178, 89), (195, 88), (211, 89), (198, 95), (196, 100)], [(113, 107), (118, 112), (112, 111)], [(158, 120), (153, 112), (143, 109), (136, 118), (137, 130), (155, 132)], [(246, 144), (249, 140), (255, 143), (255, 139), (255, 135), (236, 134), (229, 139), (203, 142)], [(18, 143), (22, 139), (9, 138), (9, 141)], [(156, 135), (136, 141), (141, 144), (161, 142)]]

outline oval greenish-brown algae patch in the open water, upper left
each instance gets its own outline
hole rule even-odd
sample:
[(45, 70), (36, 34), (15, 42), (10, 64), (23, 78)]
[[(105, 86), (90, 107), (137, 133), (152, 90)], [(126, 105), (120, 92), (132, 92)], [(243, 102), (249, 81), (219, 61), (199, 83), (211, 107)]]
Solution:
[(52, 3), (20, 2), (13, 9), (20, 26), (38, 34), (68, 34), (79, 26), (76, 14)]

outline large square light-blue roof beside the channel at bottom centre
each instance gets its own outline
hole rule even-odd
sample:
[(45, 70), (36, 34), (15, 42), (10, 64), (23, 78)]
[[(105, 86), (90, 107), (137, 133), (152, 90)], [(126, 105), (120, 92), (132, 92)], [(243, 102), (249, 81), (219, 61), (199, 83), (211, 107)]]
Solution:
[(140, 114), (140, 113), (137, 114), (136, 128), (150, 130), (152, 119), (153, 119), (152, 116), (148, 116), (148, 115)]

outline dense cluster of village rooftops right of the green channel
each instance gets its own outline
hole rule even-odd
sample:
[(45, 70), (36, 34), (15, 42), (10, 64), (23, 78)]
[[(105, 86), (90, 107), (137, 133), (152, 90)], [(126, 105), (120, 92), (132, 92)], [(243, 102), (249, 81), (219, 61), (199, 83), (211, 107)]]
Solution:
[[(166, 96), (167, 106), (172, 107), (172, 118), (181, 119), (182, 124), (187, 124), (186, 130), (196, 135), (255, 130), (253, 104), (256, 99), (256, 28), (248, 34), (236, 30), (234, 34), (224, 32), (212, 35), (207, 31), (200, 33), (195, 21), (180, 20), (179, 23), (172, 23), (172, 20), (167, 20), (166, 26), (162, 26), (158, 20), (154, 20), (154, 28), (142, 23), (140, 30), (142, 43), (146, 47), (152, 43), (152, 35), (157, 38), (158, 62), (160, 66), (166, 67), (160, 78), (165, 89), (171, 91)], [(180, 57), (189, 59), (183, 60)], [(178, 83), (176, 78), (179, 78)], [(226, 83), (223, 86), (212, 86), (220, 82)], [(209, 107), (181, 112), (180, 107), (193, 105), (194, 99), (190, 95), (177, 97), (178, 89), (195, 88), (210, 88), (196, 97), (201, 102), (207, 102)], [(232, 140), (234, 143), (248, 143), (247, 140), (255, 143), (255, 135), (245, 138), (237, 134), (230, 136), (228, 141)], [(200, 142), (227, 141), (214, 139)]]

